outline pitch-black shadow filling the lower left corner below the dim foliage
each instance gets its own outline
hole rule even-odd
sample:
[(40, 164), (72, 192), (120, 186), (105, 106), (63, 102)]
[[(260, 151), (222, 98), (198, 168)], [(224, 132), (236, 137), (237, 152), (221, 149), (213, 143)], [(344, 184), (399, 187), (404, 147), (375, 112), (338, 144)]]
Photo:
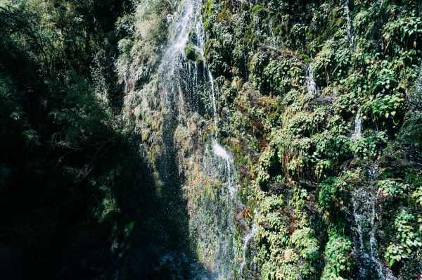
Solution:
[[(191, 251), (180, 189), (172, 184), (162, 198), (155, 196), (151, 170), (136, 154), (136, 145), (122, 140), (80, 184), (66, 182), (58, 168), (40, 166), (49, 171), (36, 178), (18, 167), (2, 196), (2, 278), (192, 279), (192, 273), (205, 274)], [(115, 210), (101, 219), (110, 197)]]

